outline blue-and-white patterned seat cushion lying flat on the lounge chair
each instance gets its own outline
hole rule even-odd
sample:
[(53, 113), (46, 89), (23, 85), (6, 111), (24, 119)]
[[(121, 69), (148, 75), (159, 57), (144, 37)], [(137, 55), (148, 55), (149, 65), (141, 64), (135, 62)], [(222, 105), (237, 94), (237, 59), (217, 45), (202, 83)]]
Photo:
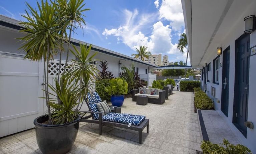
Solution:
[(111, 121), (111, 122), (119, 122), (123, 124), (129, 124), (139, 126), (144, 120), (146, 116), (142, 115), (134, 115), (134, 114), (126, 114), (126, 113), (108, 113), (102, 116), (102, 120)]

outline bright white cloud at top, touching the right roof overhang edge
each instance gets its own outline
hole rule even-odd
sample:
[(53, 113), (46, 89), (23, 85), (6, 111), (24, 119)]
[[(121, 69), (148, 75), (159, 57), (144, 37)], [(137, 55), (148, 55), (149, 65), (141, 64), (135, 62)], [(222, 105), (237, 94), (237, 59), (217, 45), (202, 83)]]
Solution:
[(159, 8), (159, 13), (161, 19), (170, 21), (170, 26), (174, 30), (179, 31), (184, 26), (181, 0), (163, 0)]

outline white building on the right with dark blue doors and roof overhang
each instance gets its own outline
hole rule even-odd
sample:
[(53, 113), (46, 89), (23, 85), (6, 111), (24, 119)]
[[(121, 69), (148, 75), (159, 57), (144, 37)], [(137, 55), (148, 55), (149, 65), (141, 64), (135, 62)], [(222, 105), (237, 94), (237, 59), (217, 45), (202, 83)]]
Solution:
[[(202, 89), (240, 142), (256, 153), (256, 1), (182, 0), (182, 8), (190, 63), (203, 69)], [(248, 16), (253, 21), (244, 21)], [(246, 29), (253, 32), (244, 34)]]

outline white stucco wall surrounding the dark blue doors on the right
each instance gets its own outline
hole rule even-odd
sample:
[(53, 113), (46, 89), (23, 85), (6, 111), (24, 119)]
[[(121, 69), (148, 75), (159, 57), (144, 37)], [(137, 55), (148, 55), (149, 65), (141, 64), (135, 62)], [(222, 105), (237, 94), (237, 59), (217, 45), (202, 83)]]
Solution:
[[(247, 9), (241, 13), (243, 17), (256, 14), (255, 10), (256, 1), (251, 3)], [(208, 86), (207, 94), (209, 97), (214, 99), (214, 108), (218, 111), (231, 129), (238, 135), (239, 140), (242, 144), (249, 147), (254, 153), (256, 152), (256, 95), (254, 94), (256, 91), (256, 55), (250, 56), (250, 69), (249, 69), (249, 99), (248, 99), (248, 121), (251, 121), (254, 124), (254, 128), (250, 129), (247, 128), (247, 137), (244, 137), (242, 133), (233, 125), (233, 105), (234, 105), (234, 86), (235, 86), (235, 40), (238, 39), (244, 31), (244, 21), (239, 20), (236, 23), (231, 23), (232, 26), (229, 27), (229, 31), (226, 34), (223, 34), (223, 41), (221, 42), (222, 51), (224, 51), (227, 47), (230, 46), (230, 67), (229, 67), (229, 110), (228, 110), (228, 117), (226, 117), (221, 111), (221, 90), (222, 90), (222, 67), (220, 68), (220, 75), (219, 75), (219, 85), (214, 84), (212, 81), (212, 73), (213, 73), (213, 60), (216, 58), (216, 54), (212, 54), (209, 56), (207, 60), (207, 64), (211, 63), (211, 82), (206, 82)], [(216, 34), (217, 35), (217, 34)], [(256, 31), (250, 34), (250, 47), (256, 46)], [(216, 53), (216, 51), (212, 51)], [(222, 62), (223, 54), (220, 55), (220, 62)], [(203, 85), (203, 81), (202, 81)], [(211, 95), (211, 87), (216, 88), (216, 97), (214, 98)], [(220, 100), (221, 103), (217, 103), (217, 100)]]

